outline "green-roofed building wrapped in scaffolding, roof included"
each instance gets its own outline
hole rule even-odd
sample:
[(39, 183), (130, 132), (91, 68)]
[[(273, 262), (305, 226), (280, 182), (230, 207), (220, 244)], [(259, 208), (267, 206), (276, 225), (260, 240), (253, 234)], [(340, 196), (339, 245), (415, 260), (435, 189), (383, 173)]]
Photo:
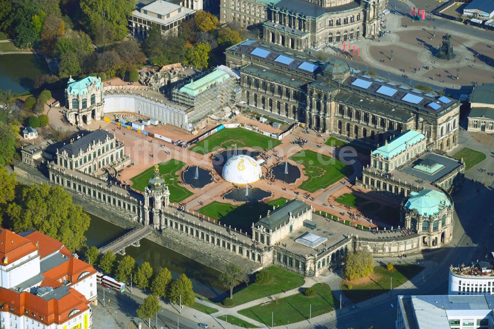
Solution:
[(235, 103), (241, 100), (240, 76), (233, 70), (219, 66), (201, 77), (173, 88), (173, 104), (187, 108), (192, 126), (205, 123), (206, 118), (221, 121), (232, 115)]

